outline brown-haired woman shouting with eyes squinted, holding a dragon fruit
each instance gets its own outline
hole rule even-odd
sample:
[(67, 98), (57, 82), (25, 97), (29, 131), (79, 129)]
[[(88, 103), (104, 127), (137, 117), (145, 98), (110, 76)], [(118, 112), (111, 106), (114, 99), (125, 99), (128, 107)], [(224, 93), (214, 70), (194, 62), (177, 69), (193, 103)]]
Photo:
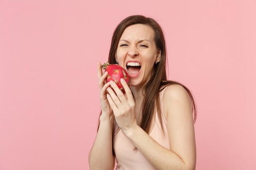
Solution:
[[(101, 115), (90, 150), (91, 170), (194, 170), (196, 110), (190, 91), (166, 79), (166, 46), (159, 24), (133, 15), (115, 29), (108, 58), (130, 76), (104, 83), (98, 62)], [(112, 88), (111, 88), (112, 87)], [(193, 116), (194, 113), (194, 116)]]

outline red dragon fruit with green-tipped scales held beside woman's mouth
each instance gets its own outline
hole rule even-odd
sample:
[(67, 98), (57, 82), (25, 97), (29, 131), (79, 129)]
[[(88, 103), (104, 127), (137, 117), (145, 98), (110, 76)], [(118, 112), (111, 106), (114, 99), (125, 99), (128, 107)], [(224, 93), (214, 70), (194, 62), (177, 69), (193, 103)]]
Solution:
[(117, 84), (119, 89), (123, 93), (125, 93), (124, 88), (120, 82), (120, 79), (123, 78), (128, 84), (128, 86), (130, 85), (130, 78), (126, 70), (118, 64), (108, 64), (108, 62), (102, 64), (101, 68), (103, 68), (104, 72), (108, 71), (108, 77), (106, 78), (106, 82), (110, 82), (110, 80), (112, 80)]

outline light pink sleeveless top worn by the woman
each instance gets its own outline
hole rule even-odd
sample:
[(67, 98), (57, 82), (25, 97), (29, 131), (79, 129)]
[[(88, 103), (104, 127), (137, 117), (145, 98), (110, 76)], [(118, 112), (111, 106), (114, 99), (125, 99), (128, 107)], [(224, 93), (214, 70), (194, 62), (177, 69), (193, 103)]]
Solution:
[[(162, 99), (163, 99), (163, 94), (165, 89), (160, 93), (163, 131), (161, 130), (161, 124), (158, 119), (158, 115), (156, 113), (155, 124), (149, 136), (152, 137), (158, 144), (162, 145), (167, 149), (170, 149), (166, 118), (164, 117), (163, 106), (162, 106)], [(122, 130), (119, 130), (115, 135), (113, 146), (114, 146), (116, 160), (117, 160), (116, 170), (155, 170), (155, 168), (141, 154), (139, 150), (134, 151), (135, 146), (132, 144), (130, 139), (128, 139), (123, 134)]]

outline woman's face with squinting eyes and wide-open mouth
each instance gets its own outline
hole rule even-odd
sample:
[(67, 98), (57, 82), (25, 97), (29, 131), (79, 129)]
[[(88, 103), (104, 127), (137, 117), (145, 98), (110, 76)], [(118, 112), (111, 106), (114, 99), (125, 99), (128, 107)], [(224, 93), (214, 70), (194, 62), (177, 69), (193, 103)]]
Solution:
[(126, 69), (132, 86), (144, 86), (153, 74), (153, 66), (160, 59), (154, 30), (144, 24), (128, 26), (117, 46), (116, 60)]

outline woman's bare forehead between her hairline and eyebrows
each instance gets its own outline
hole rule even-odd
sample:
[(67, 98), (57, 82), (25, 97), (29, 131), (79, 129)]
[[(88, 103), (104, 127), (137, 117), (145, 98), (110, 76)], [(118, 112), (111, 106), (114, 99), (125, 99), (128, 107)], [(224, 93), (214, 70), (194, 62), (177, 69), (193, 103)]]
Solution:
[(147, 39), (152, 41), (154, 40), (154, 37), (154, 30), (151, 26), (145, 24), (130, 25), (121, 35), (121, 39)]

